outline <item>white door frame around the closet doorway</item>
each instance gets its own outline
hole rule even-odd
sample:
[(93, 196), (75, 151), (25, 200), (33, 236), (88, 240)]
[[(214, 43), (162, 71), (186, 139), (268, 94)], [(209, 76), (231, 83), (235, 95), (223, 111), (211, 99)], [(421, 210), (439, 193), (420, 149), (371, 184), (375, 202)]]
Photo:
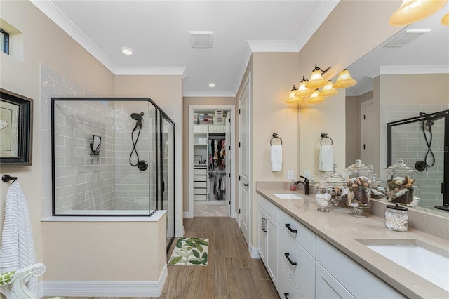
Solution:
[[(184, 212), (184, 218), (194, 218), (194, 143), (193, 143), (193, 135), (194, 135), (194, 110), (228, 110), (231, 113), (231, 139), (234, 138), (234, 142), (232, 142), (232, 147), (230, 152), (231, 161), (234, 161), (229, 166), (229, 173), (231, 174), (231, 190), (229, 192), (229, 200), (231, 201), (231, 218), (236, 218), (236, 196), (235, 196), (235, 157), (236, 157), (236, 126), (235, 126), (235, 105), (189, 105), (189, 211)], [(234, 184), (232, 184), (234, 182)]]

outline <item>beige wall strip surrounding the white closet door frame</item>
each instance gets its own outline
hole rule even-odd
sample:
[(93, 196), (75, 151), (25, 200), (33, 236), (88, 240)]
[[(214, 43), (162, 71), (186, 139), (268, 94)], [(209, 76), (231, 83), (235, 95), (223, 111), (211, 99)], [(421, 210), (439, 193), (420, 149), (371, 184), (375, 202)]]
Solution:
[[(182, 107), (182, 135), (185, 136), (182, 142), (182, 148), (188, 149), (189, 142), (193, 142), (193, 136), (189, 136), (189, 105), (236, 105), (236, 98), (234, 97), (185, 97), (183, 100)], [(235, 110), (234, 110), (235, 111)], [(236, 115), (232, 115), (232, 118), (236, 120)], [(236, 121), (236, 127), (238, 126)], [(236, 130), (237, 132), (237, 130)], [(232, 144), (235, 145), (236, 136), (233, 136)], [(236, 168), (236, 161), (234, 161), (234, 169)], [(236, 175), (234, 175), (234, 178)], [(189, 194), (189, 151), (182, 151), (182, 178), (185, 178), (185, 184), (182, 188), (182, 194)], [(236, 181), (234, 180), (233, 185), (235, 186)], [(236, 197), (238, 194), (236, 194)], [(189, 212), (189, 197), (184, 197), (182, 201), (183, 211)]]

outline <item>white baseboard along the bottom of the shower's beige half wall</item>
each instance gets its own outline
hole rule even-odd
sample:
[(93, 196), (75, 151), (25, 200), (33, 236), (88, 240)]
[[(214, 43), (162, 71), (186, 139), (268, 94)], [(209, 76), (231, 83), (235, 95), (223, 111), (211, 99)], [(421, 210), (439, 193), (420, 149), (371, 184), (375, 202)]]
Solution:
[(43, 281), (44, 296), (159, 297), (167, 279), (167, 265), (158, 281)]

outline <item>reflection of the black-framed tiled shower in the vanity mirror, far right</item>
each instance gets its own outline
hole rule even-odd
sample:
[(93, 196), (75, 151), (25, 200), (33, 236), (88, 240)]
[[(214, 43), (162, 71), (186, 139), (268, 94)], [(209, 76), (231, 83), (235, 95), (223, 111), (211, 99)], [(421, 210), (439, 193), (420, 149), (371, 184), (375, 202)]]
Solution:
[(449, 204), (449, 110), (393, 121), (387, 128), (388, 164), (402, 159), (417, 170), (414, 185), (422, 186), (419, 205)]

